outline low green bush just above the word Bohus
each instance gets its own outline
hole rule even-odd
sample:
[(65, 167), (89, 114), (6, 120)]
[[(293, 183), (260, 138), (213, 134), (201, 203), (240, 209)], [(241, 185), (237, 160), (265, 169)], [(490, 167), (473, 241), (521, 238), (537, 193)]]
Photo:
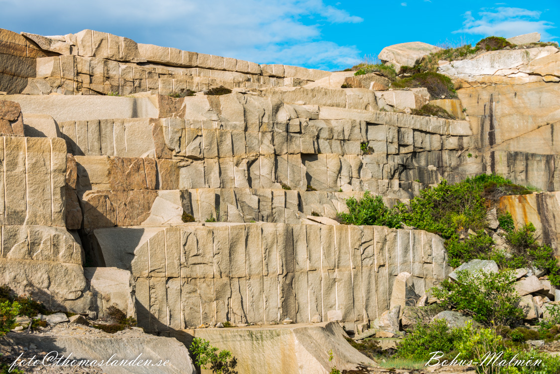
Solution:
[(435, 320), (427, 324), (418, 324), (396, 347), (396, 357), (426, 360), (432, 352), (451, 352), (458, 330), (452, 330), (445, 320)]

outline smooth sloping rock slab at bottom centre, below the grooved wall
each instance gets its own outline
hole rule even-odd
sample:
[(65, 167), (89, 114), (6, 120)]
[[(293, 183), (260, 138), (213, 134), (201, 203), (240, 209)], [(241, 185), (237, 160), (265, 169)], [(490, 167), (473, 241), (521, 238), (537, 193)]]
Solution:
[[(337, 322), (314, 325), (250, 326), (230, 329), (195, 329), (172, 331), (179, 341), (190, 345), (193, 338), (203, 338), (237, 358), (240, 373), (272, 374), (328, 373), (335, 365), (340, 371), (355, 370), (359, 365), (372, 366), (365, 355), (344, 340)], [(329, 362), (329, 349), (333, 362)]]

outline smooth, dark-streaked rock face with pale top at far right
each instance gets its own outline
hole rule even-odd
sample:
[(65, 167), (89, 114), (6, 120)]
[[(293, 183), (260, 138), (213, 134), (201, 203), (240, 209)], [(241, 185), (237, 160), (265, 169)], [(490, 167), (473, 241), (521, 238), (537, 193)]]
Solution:
[(560, 190), (560, 50), (549, 45), (497, 50), (442, 64), (457, 85), (482, 154), (482, 169), (514, 183)]

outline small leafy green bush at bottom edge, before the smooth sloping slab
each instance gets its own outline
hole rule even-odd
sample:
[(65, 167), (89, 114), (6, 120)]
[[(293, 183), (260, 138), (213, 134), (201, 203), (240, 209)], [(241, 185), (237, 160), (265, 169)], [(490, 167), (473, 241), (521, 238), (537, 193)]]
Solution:
[(212, 370), (216, 374), (237, 374), (237, 359), (228, 350), (221, 350), (210, 345), (202, 338), (194, 338), (189, 347), (194, 356), (194, 364), (200, 368)]

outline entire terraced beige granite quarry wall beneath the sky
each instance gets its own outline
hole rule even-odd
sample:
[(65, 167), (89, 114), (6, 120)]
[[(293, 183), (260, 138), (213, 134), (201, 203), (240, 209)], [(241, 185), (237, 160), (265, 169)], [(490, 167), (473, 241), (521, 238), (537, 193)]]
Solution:
[[(404, 43), (380, 58), (399, 70), (433, 50)], [(559, 58), (529, 44), (442, 62), (462, 88), (431, 100), (375, 74), (259, 65), (94, 30), (0, 30), (0, 284), (57, 311), (117, 307), (170, 336), (265, 324), (263, 350), (248, 343), (252, 327), (193, 333), (231, 335), (248, 362), (282, 342), (295, 357), (286, 367), (328, 372), (333, 343), (354, 365), (361, 357), (332, 340), (338, 324), (392, 335), (401, 311), (453, 273), (440, 237), (343, 225), (337, 212), (365, 191), (393, 206), (484, 172), (558, 189)], [(209, 91), (220, 86), (232, 92)], [(458, 119), (407, 114), (428, 102)], [(501, 204), (556, 246), (556, 195), (524, 196)], [(495, 211), (488, 219), (496, 227)], [(528, 271), (518, 285), (527, 318), (538, 318), (557, 290), (525, 284), (542, 275)], [(318, 330), (297, 330), (309, 322)]]

